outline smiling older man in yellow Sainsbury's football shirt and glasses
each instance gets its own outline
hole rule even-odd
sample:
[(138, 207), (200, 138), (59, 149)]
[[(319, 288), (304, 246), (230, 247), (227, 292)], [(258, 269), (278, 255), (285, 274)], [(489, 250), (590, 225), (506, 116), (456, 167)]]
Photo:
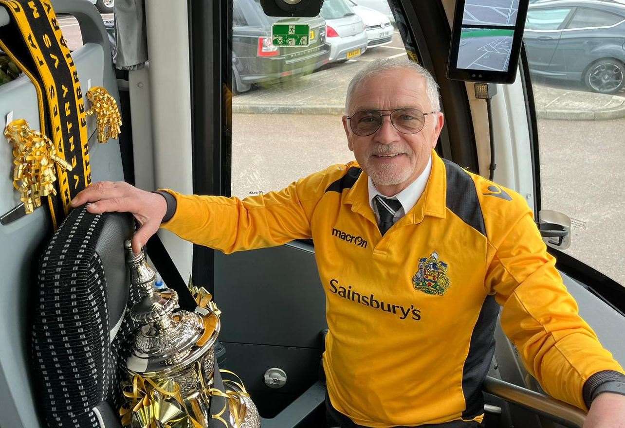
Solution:
[(326, 292), (329, 413), (344, 427), (479, 426), (481, 382), (501, 323), (552, 396), (622, 427), (621, 366), (577, 314), (516, 192), (433, 150), (436, 83), (380, 61), (349, 85), (342, 117), (357, 162), (239, 200), (97, 183), (90, 212), (129, 211), (138, 251), (159, 227), (225, 253), (315, 242)]

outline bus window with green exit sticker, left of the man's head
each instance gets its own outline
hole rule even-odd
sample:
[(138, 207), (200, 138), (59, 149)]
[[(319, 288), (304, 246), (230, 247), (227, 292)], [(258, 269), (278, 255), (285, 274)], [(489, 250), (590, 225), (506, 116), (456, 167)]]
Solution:
[[(366, 6), (365, 6), (366, 5)], [(234, 0), (231, 194), (278, 190), (354, 159), (341, 123), (347, 85), (377, 58), (406, 57), (386, 0), (326, 0), (308, 47), (277, 47), (259, 0)]]

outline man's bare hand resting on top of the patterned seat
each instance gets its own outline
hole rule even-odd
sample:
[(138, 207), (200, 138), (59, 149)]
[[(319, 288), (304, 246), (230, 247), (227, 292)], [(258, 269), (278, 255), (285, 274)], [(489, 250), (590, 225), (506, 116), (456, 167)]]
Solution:
[(79, 192), (71, 202), (78, 207), (86, 202), (87, 211), (93, 214), (101, 212), (132, 212), (141, 227), (133, 237), (134, 254), (139, 254), (148, 239), (158, 231), (167, 212), (167, 202), (159, 194), (137, 189), (123, 181), (100, 181)]

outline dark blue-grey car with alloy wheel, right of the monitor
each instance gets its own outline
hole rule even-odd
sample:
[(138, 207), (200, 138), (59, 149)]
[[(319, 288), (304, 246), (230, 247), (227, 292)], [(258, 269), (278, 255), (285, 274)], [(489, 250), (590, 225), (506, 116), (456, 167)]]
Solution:
[(625, 5), (595, 0), (529, 4), (524, 44), (536, 79), (613, 94), (625, 85)]

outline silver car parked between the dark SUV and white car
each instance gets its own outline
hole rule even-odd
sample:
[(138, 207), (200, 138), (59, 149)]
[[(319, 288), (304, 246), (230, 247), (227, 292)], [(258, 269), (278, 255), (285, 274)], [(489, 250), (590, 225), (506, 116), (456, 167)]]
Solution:
[(325, 0), (321, 16), (326, 20), (326, 41), (330, 44), (330, 62), (347, 61), (367, 50), (364, 23), (346, 0)]

